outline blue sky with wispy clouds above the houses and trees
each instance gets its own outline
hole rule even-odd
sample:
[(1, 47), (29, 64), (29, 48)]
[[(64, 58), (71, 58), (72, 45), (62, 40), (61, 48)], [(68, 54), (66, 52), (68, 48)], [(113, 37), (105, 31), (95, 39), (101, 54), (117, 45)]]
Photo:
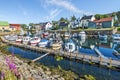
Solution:
[(120, 0), (0, 0), (0, 21), (39, 23), (120, 10)]

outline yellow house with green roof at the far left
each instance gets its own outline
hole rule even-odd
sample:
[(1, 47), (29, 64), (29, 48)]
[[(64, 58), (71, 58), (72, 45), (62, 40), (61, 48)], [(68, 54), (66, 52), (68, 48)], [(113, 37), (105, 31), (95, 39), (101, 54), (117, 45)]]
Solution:
[(10, 28), (10, 25), (7, 21), (0, 21), (0, 31), (9, 32), (13, 30)]

